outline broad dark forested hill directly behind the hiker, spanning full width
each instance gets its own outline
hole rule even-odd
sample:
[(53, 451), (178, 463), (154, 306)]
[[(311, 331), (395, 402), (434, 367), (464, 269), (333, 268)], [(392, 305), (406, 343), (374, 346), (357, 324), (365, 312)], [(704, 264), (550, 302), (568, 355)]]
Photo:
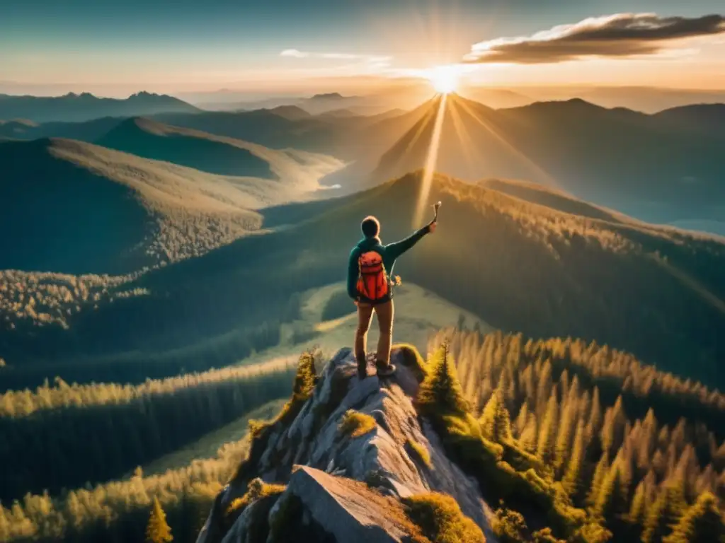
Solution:
[[(344, 198), (266, 209), (268, 233), (124, 285), (144, 296), (80, 311), (62, 333), (3, 332), (4, 358), (20, 366), (183, 348), (278, 318), (295, 295), (344, 277), (366, 214), (382, 220), (384, 240), (410, 232), (420, 191), (420, 174), (409, 174)], [(717, 363), (725, 355), (717, 339), (725, 327), (720, 238), (653, 227), (561, 195), (532, 203), (536, 194), (528, 194), (524, 200), (437, 176), (426, 199), (443, 201), (439, 232), (396, 271), (492, 327), (596, 340), (724, 386)]]

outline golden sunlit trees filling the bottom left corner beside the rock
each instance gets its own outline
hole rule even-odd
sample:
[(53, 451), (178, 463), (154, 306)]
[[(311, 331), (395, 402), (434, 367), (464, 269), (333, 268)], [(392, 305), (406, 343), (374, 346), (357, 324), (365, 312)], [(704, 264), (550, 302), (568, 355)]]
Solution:
[(185, 468), (144, 476), (140, 468), (128, 479), (90, 484), (51, 497), (25, 494), (0, 504), (0, 541), (138, 543), (154, 498), (159, 500), (174, 541), (193, 543), (216, 494), (247, 455), (245, 437), (220, 449), (215, 458), (194, 460)]

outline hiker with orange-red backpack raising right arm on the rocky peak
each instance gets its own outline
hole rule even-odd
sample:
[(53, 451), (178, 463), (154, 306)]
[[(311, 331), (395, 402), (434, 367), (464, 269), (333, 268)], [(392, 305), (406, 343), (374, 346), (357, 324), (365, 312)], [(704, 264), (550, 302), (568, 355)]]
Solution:
[[(436, 218), (438, 208), (436, 206)], [(363, 240), (355, 245), (350, 253), (347, 270), (347, 293), (355, 300), (357, 306), (357, 330), (355, 331), (355, 359), (357, 374), (360, 379), (368, 375), (368, 363), (365, 344), (368, 340), (368, 329), (373, 311), (378, 316), (380, 339), (376, 369), (378, 376), (392, 375), (395, 368), (390, 364), (390, 346), (393, 334), (393, 292), (392, 270), (395, 259), (413, 247), (428, 232), (436, 231), (436, 218), (425, 227), (396, 243), (383, 245), (380, 234), (380, 222), (374, 216), (368, 216), (360, 224)]]

